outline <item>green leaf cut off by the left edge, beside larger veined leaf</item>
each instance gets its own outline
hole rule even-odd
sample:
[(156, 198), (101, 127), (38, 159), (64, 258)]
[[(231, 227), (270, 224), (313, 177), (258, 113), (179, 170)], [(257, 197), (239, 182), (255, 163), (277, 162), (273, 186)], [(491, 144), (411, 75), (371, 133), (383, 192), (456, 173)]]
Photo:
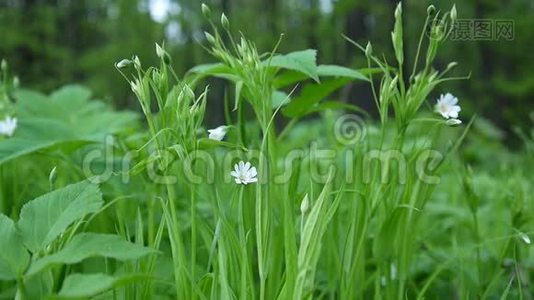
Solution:
[(15, 223), (0, 214), (0, 280), (16, 279), (24, 272), (29, 261), (30, 256)]

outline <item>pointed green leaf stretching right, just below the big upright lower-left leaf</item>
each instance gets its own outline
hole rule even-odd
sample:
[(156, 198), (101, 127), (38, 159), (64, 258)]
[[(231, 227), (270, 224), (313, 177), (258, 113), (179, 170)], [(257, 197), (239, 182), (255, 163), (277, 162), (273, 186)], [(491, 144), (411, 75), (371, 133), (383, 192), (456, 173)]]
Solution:
[(138, 259), (156, 253), (155, 250), (130, 243), (118, 235), (80, 233), (60, 251), (45, 256), (30, 266), (27, 275), (35, 274), (54, 264), (75, 264), (89, 257), (117, 260)]

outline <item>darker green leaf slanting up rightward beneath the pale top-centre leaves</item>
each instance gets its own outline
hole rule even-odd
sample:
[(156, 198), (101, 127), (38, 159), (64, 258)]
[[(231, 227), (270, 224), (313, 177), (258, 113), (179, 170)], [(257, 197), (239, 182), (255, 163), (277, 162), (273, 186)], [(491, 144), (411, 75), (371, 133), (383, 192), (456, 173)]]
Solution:
[(324, 81), (320, 84), (306, 85), (300, 95), (282, 110), (288, 117), (301, 117), (313, 110), (315, 105), (328, 95), (344, 86), (350, 79), (340, 78)]

